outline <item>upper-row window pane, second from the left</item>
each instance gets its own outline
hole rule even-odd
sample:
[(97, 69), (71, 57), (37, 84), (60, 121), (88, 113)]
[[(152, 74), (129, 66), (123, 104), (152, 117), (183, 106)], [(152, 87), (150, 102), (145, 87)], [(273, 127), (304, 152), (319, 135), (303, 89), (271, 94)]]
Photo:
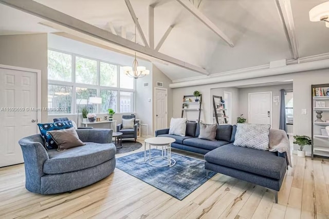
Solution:
[(76, 57), (76, 82), (97, 85), (97, 61)]

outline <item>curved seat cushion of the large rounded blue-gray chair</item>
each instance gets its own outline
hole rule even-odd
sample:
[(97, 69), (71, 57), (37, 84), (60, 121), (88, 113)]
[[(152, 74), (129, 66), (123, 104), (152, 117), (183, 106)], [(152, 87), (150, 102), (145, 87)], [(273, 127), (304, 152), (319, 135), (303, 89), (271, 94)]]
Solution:
[(63, 151), (48, 150), (49, 159), (43, 164), (43, 172), (59, 174), (83, 170), (100, 165), (114, 158), (114, 144), (85, 142), (86, 145)]

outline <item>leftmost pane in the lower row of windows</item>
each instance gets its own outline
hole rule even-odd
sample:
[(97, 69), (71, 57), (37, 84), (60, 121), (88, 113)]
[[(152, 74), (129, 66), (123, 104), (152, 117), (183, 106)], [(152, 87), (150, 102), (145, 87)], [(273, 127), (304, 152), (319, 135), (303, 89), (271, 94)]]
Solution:
[(71, 113), (72, 87), (48, 84), (49, 114)]

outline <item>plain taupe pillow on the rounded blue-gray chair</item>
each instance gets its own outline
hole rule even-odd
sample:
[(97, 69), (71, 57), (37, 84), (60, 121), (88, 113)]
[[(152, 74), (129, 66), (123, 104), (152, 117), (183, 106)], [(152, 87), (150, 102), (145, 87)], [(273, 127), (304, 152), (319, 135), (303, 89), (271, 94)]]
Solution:
[(78, 133), (74, 127), (62, 130), (47, 131), (52, 139), (58, 145), (57, 150), (70, 149), (78, 146), (85, 145), (79, 139)]

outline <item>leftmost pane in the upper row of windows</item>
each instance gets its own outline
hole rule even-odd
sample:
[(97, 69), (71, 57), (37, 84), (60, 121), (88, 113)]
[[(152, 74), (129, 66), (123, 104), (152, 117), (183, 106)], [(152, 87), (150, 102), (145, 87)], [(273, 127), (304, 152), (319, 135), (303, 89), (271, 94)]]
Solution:
[(72, 56), (48, 50), (48, 79), (72, 81)]

